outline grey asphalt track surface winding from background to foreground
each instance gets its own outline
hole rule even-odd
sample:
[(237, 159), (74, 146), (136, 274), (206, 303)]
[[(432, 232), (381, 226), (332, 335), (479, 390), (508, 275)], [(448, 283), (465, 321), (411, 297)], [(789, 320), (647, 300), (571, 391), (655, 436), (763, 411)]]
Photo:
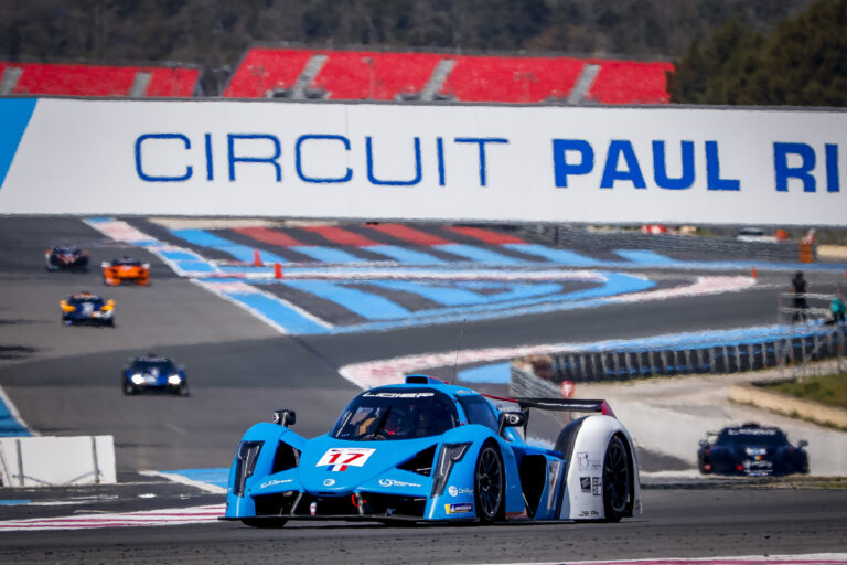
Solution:
[[(88, 274), (46, 273), (44, 249), (63, 242), (92, 252)], [(81, 512), (222, 502), (185, 486), (141, 478), (142, 469), (227, 467), (240, 434), (275, 408), (298, 412), (304, 436), (323, 433), (356, 388), (344, 364), (449, 351), (460, 327), (293, 338), (127, 250), (74, 218), (0, 220), (0, 385), (22, 419), (44, 435), (115, 436), (124, 484), (86, 491)], [(96, 265), (130, 253), (152, 265), (150, 288), (101, 286)], [(571, 310), (469, 324), (462, 348), (585, 342), (775, 321), (773, 286), (749, 291)], [(816, 280), (812, 278), (813, 287)], [(768, 285), (773, 285), (768, 288)], [(57, 302), (90, 289), (115, 298), (117, 328), (66, 328)], [(189, 367), (192, 396), (125, 397), (119, 370), (154, 351)], [(645, 467), (661, 470), (657, 458)], [(847, 490), (650, 488), (645, 513), (621, 524), (397, 529), (292, 523), (279, 531), (237, 523), (0, 534), (0, 563), (482, 563), (634, 557), (798, 554), (847, 546)], [(85, 490), (85, 489), (83, 489)], [(13, 489), (6, 489), (12, 498)], [(73, 498), (46, 489), (39, 497)], [(148, 491), (154, 498), (142, 497)], [(106, 494), (106, 493), (110, 494)], [(82, 497), (85, 498), (85, 497)], [(0, 516), (58, 515), (57, 507), (0, 507)], [(386, 558), (388, 557), (388, 558)]]

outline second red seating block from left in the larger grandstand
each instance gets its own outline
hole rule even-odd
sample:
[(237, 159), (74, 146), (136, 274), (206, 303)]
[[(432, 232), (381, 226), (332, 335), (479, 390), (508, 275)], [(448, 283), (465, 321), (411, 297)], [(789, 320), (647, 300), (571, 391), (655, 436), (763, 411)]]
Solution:
[(323, 89), (331, 99), (393, 100), (398, 95), (420, 93), (442, 58), (432, 53), (374, 53), (323, 51), (326, 62), (311, 88)]

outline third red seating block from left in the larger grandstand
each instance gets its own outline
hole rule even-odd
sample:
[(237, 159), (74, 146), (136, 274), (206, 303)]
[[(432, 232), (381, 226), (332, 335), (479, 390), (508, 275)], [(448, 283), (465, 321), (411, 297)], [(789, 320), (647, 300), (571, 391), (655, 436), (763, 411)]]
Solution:
[(564, 98), (573, 88), (583, 61), (571, 57), (454, 57), (440, 94), (461, 102), (537, 103)]

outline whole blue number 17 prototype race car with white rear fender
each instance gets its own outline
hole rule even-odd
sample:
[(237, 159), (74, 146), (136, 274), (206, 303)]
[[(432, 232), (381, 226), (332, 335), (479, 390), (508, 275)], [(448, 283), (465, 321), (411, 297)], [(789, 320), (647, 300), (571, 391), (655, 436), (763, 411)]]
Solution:
[[(329, 434), (293, 411), (244, 435), (223, 520), (617, 522), (641, 513), (632, 439), (603, 401), (489, 397), (424, 375), (361, 393)], [(592, 412), (555, 448), (525, 440), (529, 408)]]

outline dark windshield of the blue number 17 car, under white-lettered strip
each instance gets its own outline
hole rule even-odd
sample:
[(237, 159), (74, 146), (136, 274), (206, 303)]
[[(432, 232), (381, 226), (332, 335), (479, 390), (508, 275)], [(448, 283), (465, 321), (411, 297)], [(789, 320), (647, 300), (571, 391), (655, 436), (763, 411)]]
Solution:
[(366, 441), (436, 436), (459, 423), (453, 402), (431, 388), (377, 388), (350, 403), (330, 437)]

